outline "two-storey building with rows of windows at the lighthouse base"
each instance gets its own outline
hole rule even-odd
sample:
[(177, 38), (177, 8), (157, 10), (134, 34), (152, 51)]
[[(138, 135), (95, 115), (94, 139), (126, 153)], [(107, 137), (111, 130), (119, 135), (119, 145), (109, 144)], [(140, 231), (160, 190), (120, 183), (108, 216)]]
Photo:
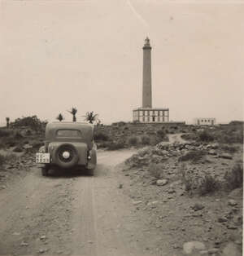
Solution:
[(135, 108), (133, 121), (142, 123), (169, 121), (168, 108)]

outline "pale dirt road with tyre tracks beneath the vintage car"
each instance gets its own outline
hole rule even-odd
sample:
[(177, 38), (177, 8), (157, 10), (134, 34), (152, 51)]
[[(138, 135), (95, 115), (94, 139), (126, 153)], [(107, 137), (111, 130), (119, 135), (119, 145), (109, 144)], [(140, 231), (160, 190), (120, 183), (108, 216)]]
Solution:
[[(0, 194), (1, 255), (148, 255), (145, 220), (115, 166), (133, 151), (98, 152), (94, 177), (37, 166)], [(120, 189), (121, 188), (121, 189)]]

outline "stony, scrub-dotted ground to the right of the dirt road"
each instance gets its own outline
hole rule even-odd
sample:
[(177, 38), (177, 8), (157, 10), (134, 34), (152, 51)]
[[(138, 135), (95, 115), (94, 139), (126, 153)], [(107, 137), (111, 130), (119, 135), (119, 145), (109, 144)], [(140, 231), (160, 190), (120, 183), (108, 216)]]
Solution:
[[(242, 146), (229, 153), (219, 143), (177, 140), (143, 148), (125, 161), (129, 182), (124, 192), (135, 210), (148, 214), (159, 237), (167, 236), (172, 254), (242, 255), (242, 188), (231, 190), (224, 183), (226, 173), (242, 161)], [(181, 161), (189, 152), (200, 155)], [(194, 188), (186, 188), (189, 180), (182, 174), (190, 175)], [(203, 183), (206, 175), (219, 186)]]

